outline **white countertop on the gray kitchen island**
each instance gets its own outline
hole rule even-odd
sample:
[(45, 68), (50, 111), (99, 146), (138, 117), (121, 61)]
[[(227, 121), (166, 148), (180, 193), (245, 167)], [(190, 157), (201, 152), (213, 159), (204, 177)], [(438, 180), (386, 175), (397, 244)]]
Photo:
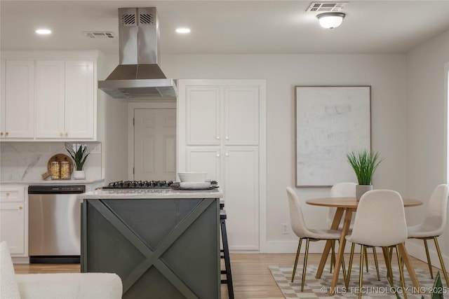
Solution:
[(85, 200), (105, 199), (157, 199), (157, 198), (222, 198), (220, 188), (212, 190), (173, 190), (173, 189), (107, 189), (82, 193), (77, 196)]

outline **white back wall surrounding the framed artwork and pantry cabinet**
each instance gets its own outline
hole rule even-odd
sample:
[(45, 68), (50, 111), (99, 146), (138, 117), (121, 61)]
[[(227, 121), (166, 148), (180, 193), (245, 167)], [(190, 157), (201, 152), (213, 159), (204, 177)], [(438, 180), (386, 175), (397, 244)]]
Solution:
[[(267, 244), (264, 251), (295, 252), (297, 238), (281, 235), (288, 223), (286, 186), (295, 185), (295, 85), (371, 85), (372, 146), (386, 159), (375, 188), (406, 191), (405, 55), (163, 55), (168, 78), (267, 79)], [(299, 188), (300, 200), (328, 188)], [(304, 207), (307, 225), (322, 226), (326, 208)], [(322, 243), (322, 242), (317, 242)], [(314, 243), (311, 251), (322, 244)]]

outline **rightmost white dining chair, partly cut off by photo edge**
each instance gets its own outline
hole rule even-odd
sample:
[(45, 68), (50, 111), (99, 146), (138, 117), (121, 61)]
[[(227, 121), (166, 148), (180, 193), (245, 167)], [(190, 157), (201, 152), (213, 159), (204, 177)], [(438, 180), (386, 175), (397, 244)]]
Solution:
[(444, 267), (444, 262), (441, 256), (437, 237), (443, 233), (446, 226), (446, 219), (448, 214), (448, 196), (448, 185), (443, 183), (436, 186), (430, 196), (429, 203), (427, 204), (424, 221), (422, 221), (422, 223), (420, 223), (419, 225), (413, 225), (407, 228), (409, 239), (422, 239), (424, 241), (424, 248), (426, 249), (427, 263), (429, 264), (429, 272), (431, 278), (434, 278), (434, 274), (432, 272), (432, 264), (430, 261), (427, 240), (434, 240), (436, 252), (438, 253), (438, 258), (440, 259), (441, 263), (441, 270), (443, 270), (443, 275), (447, 286), (449, 286), (448, 273), (446, 272)]

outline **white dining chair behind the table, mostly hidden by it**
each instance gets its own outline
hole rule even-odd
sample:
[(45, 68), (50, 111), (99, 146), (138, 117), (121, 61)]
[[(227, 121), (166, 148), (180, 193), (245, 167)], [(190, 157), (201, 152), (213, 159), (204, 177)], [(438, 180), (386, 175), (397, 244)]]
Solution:
[[(357, 186), (357, 184), (353, 183), (353, 182), (335, 183), (335, 185), (333, 185), (332, 188), (330, 188), (330, 197), (356, 197), (356, 186)], [(334, 218), (336, 212), (337, 212), (337, 208), (334, 208), (334, 207), (330, 207), (328, 210), (328, 218), (327, 218), (326, 222), (328, 223), (329, 228), (332, 225), (333, 218)], [(351, 218), (351, 225), (349, 226), (349, 233), (351, 232), (352, 225), (354, 225), (355, 216), (356, 216), (356, 213), (353, 213), (352, 218)], [(343, 227), (343, 223), (340, 222), (338, 229), (342, 230), (342, 227)], [(371, 248), (373, 249), (374, 264), (375, 264), (376, 273), (377, 273), (377, 280), (380, 280), (379, 263), (377, 262), (376, 249), (375, 249), (375, 247), (371, 247)], [(368, 272), (368, 254), (366, 252), (366, 247), (364, 250), (365, 250), (366, 272)], [(335, 263), (334, 255), (331, 256), (331, 259), (332, 259), (331, 265), (333, 265), (333, 263)], [(332, 271), (332, 267), (330, 267), (330, 270)]]

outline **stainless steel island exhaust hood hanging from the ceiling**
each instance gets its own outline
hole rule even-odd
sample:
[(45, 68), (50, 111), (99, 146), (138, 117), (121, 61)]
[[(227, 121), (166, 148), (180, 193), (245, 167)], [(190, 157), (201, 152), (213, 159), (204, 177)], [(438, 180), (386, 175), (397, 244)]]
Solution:
[(176, 81), (159, 67), (155, 7), (119, 8), (119, 66), (98, 88), (116, 99), (177, 96)]

